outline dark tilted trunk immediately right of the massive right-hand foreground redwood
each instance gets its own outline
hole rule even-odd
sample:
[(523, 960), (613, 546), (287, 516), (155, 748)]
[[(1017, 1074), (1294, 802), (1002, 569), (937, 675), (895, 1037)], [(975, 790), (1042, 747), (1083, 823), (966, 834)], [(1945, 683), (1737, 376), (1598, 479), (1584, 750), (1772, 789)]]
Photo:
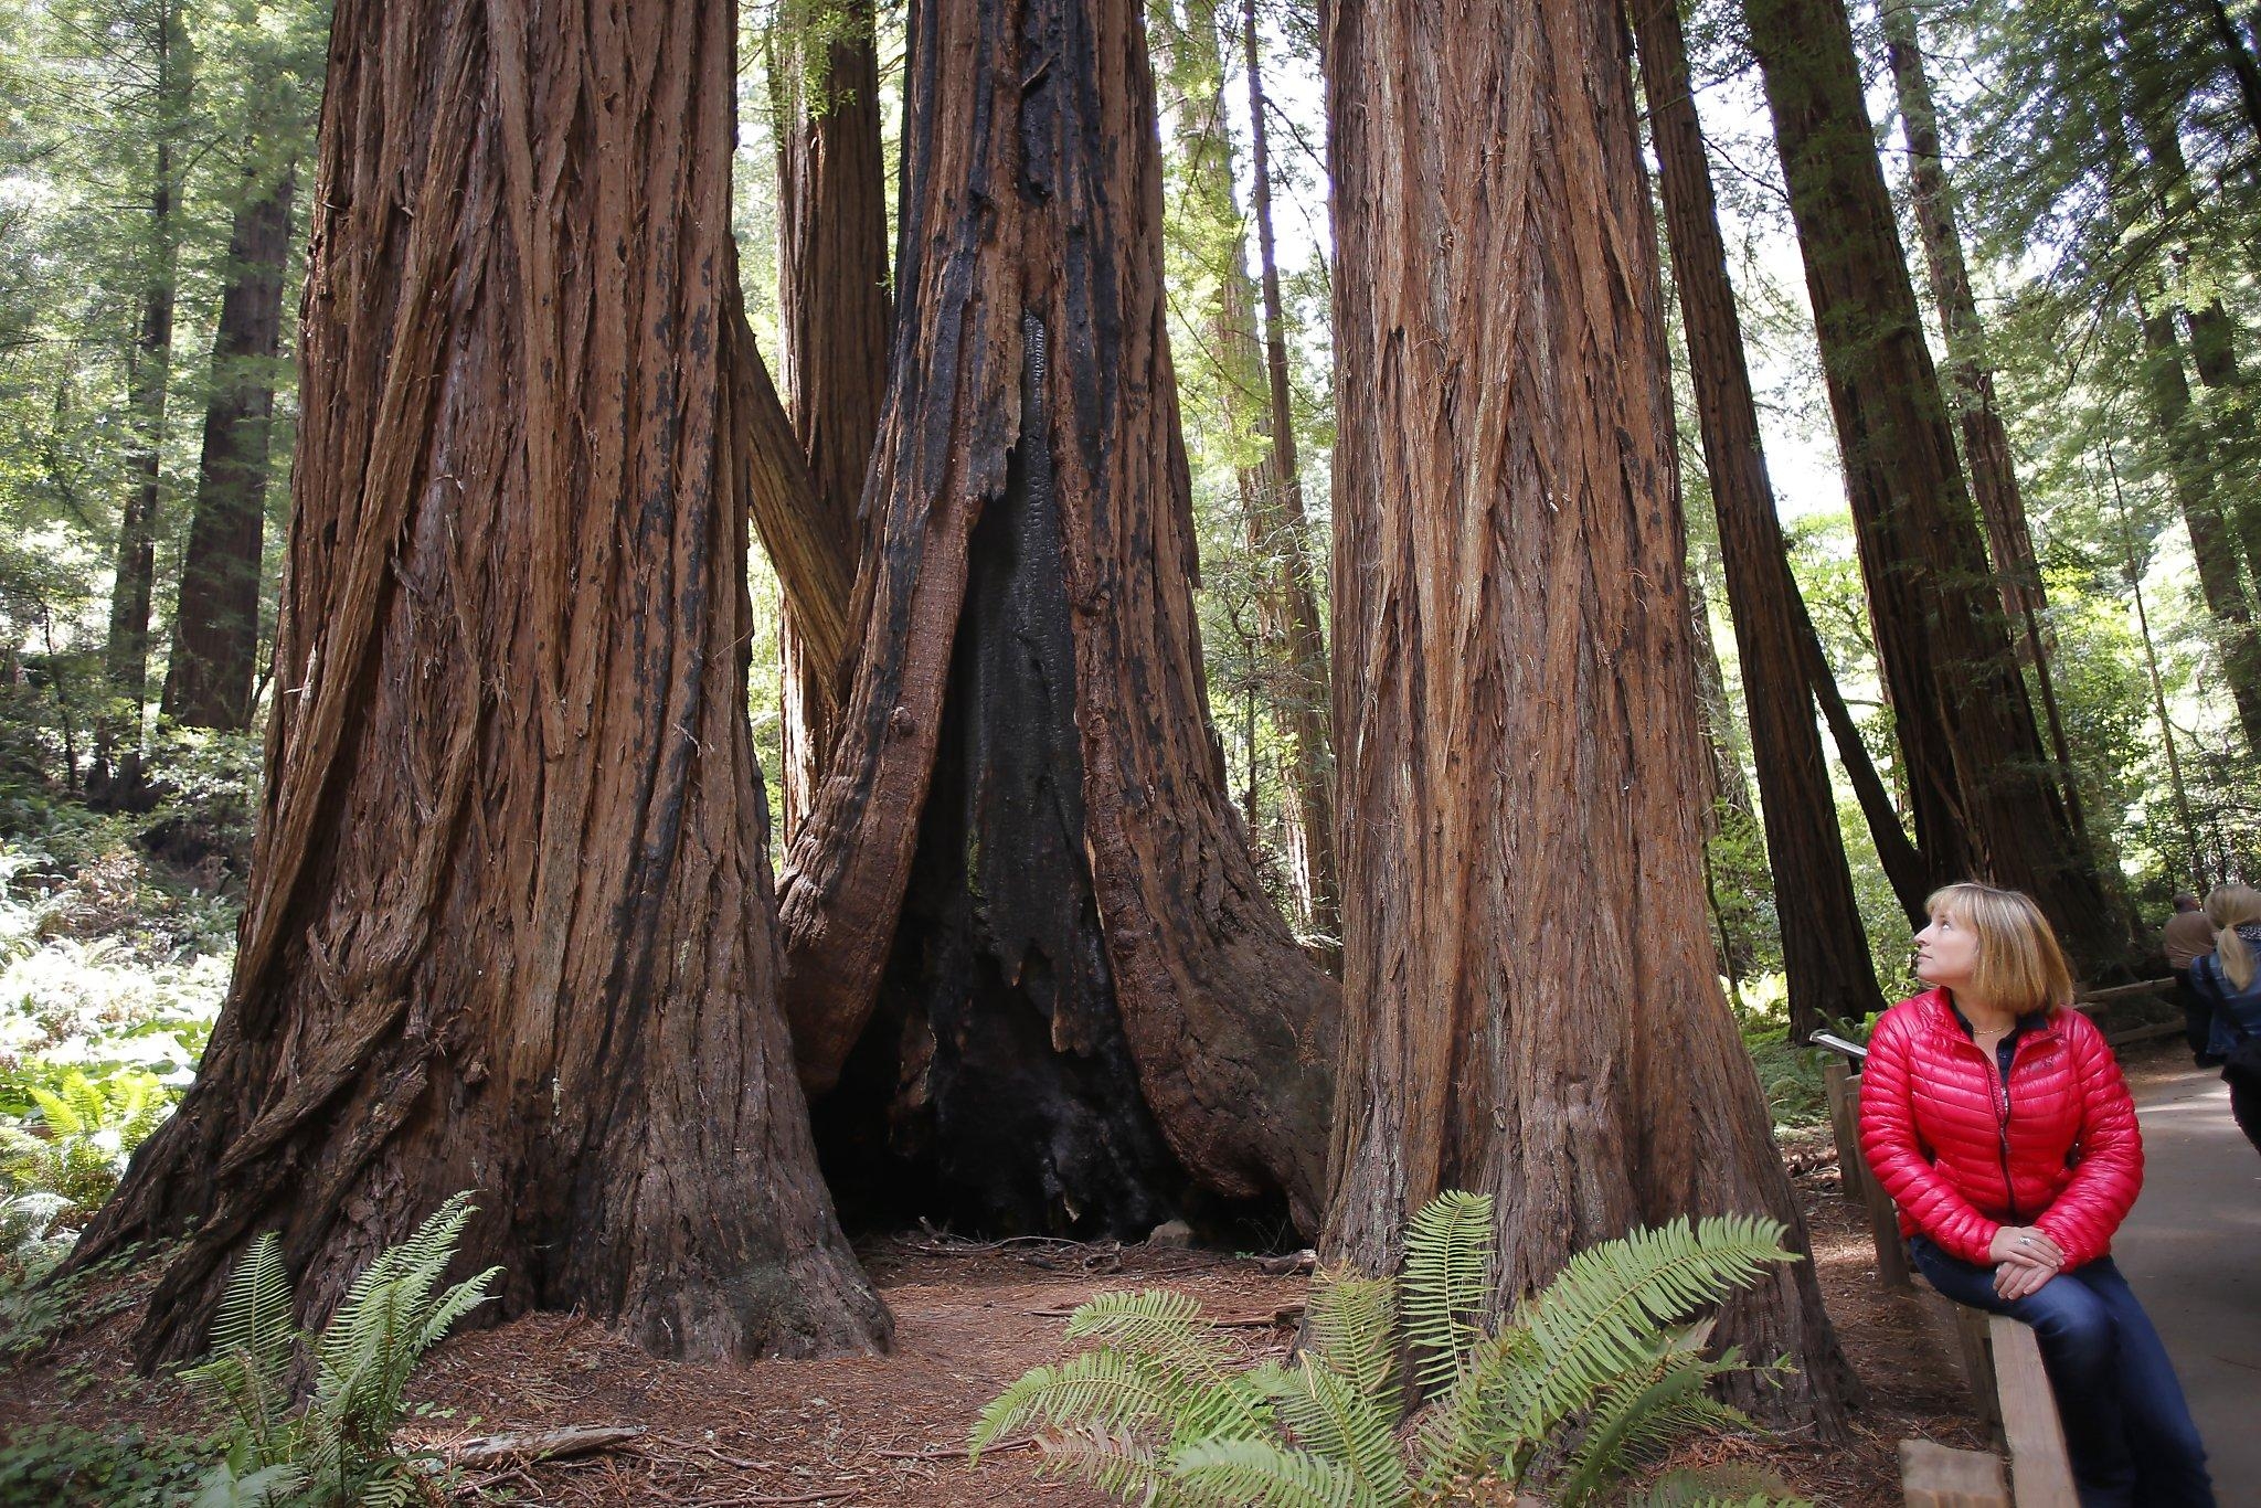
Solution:
[(1766, 861), (1775, 877), (1782, 965), (1791, 988), (1791, 1038), (1802, 1042), (1829, 1020), (1863, 1020), (1881, 995), (1822, 739), (1813, 728), (1802, 608), (1793, 601), (1797, 583), (1759, 448), (1759, 407), (1743, 357), (1743, 321), (1727, 283), (1727, 246), (1696, 120), (1680, 7), (1675, 0), (1635, 0), (1632, 25), (1664, 181), (1664, 228), (1689, 339), (1696, 421), (1718, 511), (1734, 649), (1750, 708)]

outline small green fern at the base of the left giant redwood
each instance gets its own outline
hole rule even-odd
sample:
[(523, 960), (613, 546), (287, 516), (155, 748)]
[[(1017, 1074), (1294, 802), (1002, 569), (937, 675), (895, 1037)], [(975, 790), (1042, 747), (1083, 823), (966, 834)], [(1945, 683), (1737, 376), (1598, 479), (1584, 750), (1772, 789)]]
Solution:
[[(183, 1372), (228, 1420), (226, 1461), (206, 1476), (199, 1503), (398, 1508), (427, 1497), (427, 1472), (393, 1447), (393, 1431), (416, 1361), (486, 1302), (502, 1271), (439, 1286), (470, 1216), (470, 1194), (457, 1194), (407, 1241), (384, 1248), (321, 1336), (292, 1323), (276, 1234), (251, 1243), (213, 1318), (213, 1357)], [(314, 1393), (292, 1406), (301, 1354)]]

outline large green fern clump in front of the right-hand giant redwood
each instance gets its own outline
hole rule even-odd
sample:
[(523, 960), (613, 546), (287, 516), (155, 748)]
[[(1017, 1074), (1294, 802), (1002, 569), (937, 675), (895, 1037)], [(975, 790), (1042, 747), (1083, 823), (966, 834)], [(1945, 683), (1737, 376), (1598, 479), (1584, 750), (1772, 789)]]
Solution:
[[(1099, 1345), (997, 1395), (970, 1451), (1036, 1431), (1047, 1470), (1162, 1508), (1384, 1508), (1479, 1479), (1592, 1503), (1691, 1431), (1748, 1427), (1709, 1390), (1748, 1368), (1705, 1357), (1712, 1325), (1689, 1318), (1791, 1262), (1779, 1241), (1743, 1216), (1637, 1230), (1485, 1329), (1492, 1201), (1445, 1194), (1413, 1216), (1402, 1280), (1320, 1275), (1293, 1366), (1237, 1370), (1187, 1295), (1103, 1293), (1067, 1325)], [(1402, 1345), (1431, 1397), (1411, 1431)], [(1675, 1474), (1651, 1499), (1696, 1488)]]

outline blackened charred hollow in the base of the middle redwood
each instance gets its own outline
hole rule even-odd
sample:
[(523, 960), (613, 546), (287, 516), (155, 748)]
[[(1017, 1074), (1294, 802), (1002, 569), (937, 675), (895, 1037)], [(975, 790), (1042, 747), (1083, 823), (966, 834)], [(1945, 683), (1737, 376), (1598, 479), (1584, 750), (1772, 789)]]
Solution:
[[(1187, 1176), (1137, 1090), (1083, 859), (1045, 330), (972, 531), (934, 785), (873, 1022), (816, 1119), (850, 1221), (1142, 1237)], [(884, 1135), (880, 1135), (884, 1128)]]

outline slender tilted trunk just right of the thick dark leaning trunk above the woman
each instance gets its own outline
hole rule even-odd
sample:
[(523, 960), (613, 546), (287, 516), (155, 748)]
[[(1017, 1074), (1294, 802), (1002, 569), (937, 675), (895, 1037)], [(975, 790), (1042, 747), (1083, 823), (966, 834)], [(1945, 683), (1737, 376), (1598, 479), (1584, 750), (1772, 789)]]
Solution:
[(1994, 556), (1994, 579), (2001, 606), (2021, 638), (2035, 692), (2042, 699), (2042, 721), (2048, 748), (2058, 762), (2058, 787), (2073, 830), (2085, 830), (2080, 782), (2073, 775), (2073, 751), (2064, 737), (2064, 714), (2058, 708), (2058, 685), (2048, 665), (2048, 635), (2042, 615), (2048, 599), (2042, 592), (2042, 567), (2033, 554), (2033, 531), (2026, 525), (2026, 500), (2017, 486), (2017, 463), (2010, 457), (2010, 432), (1994, 400), (1994, 369), (1987, 362), (1985, 323), (1972, 296), (1969, 265), (1963, 260), (1963, 233), (1956, 228), (1954, 190), (1940, 161), (1940, 118), (1931, 99), (1931, 77), (1924, 70), (1924, 43), (1913, 0), (1879, 0), (1886, 54), (1899, 93), (1899, 124), (1908, 142), (1908, 183), (1915, 197), (1915, 228), (1924, 244), (1924, 269), (1931, 274), (1931, 301), (1947, 335), (1947, 378), (1954, 393), (1956, 427), (1963, 432), (1963, 459), (1969, 466), (1972, 497), (1985, 520)]

